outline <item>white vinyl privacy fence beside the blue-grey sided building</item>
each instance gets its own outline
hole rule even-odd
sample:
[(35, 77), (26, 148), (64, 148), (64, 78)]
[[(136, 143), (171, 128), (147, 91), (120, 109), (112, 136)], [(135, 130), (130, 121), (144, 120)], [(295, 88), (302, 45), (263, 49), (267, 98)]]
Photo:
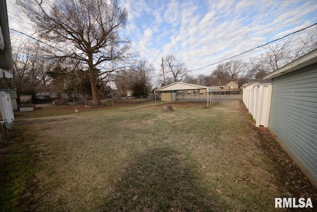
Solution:
[(256, 120), (256, 126), (268, 126), (272, 85), (248, 88), (243, 90), (243, 103)]

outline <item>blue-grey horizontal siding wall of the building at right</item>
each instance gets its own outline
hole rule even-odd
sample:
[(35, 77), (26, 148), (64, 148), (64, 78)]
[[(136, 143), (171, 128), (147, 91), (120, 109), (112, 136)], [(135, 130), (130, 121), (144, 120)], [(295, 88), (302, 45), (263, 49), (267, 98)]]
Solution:
[(317, 65), (272, 85), (268, 127), (317, 180)]

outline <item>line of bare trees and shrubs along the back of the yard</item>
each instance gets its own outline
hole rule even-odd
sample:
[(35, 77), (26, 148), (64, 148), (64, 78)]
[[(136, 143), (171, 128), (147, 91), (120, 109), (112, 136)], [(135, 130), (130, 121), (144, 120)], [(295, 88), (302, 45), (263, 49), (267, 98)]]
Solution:
[[(214, 78), (262, 78), (317, 47), (314, 35), (306, 39), (290, 37), (265, 46), (265, 51), (250, 62), (231, 60), (218, 64), (211, 74), (193, 77), (184, 62), (175, 55), (162, 58), (163, 77), (154, 82), (155, 68), (148, 60), (133, 52), (131, 41), (123, 36), (128, 11), (116, 0), (17, 0), (21, 11), (30, 19), (42, 42), (12, 42), (13, 80), (0, 82), (3, 88), (15, 88), (18, 102), (21, 94), (51, 91), (66, 93), (69, 98), (80, 95), (94, 105), (109, 94), (109, 86), (118, 95), (147, 95), (154, 84), (172, 82), (209, 86)], [(45, 42), (43, 42), (45, 41)], [(166, 73), (166, 75), (165, 75)]]

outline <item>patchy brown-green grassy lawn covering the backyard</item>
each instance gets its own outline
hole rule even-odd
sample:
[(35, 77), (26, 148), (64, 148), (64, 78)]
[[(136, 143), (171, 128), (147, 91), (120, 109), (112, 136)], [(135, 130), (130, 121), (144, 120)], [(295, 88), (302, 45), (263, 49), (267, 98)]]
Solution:
[(171, 105), (24, 119), (31, 173), (0, 211), (276, 211), (277, 173), (241, 101)]

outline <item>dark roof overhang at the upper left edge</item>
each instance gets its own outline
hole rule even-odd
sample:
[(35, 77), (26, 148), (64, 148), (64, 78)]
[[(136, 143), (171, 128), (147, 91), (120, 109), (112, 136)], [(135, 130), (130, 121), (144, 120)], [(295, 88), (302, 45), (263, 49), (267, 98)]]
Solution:
[(0, 69), (13, 68), (8, 16), (5, 0), (0, 0)]

